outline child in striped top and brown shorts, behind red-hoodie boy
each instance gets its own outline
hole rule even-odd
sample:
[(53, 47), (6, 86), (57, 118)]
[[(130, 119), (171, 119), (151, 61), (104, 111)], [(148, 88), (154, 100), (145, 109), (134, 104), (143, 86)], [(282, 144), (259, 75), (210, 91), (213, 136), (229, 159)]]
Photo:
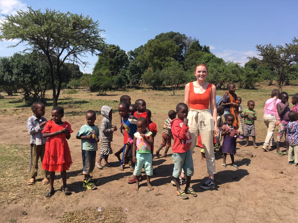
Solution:
[(167, 156), (167, 152), (169, 150), (169, 147), (171, 146), (171, 141), (172, 141), (171, 139), (174, 139), (173, 134), (170, 131), (171, 130), (170, 123), (174, 118), (176, 118), (176, 112), (174, 110), (169, 110), (168, 116), (169, 118), (165, 120), (164, 129), (162, 130), (162, 133), (161, 133), (162, 143), (160, 144), (158, 150), (156, 151), (156, 156), (158, 158), (160, 157), (159, 152), (163, 147), (165, 147), (165, 152), (164, 152), (164, 155), (162, 155), (161, 157)]

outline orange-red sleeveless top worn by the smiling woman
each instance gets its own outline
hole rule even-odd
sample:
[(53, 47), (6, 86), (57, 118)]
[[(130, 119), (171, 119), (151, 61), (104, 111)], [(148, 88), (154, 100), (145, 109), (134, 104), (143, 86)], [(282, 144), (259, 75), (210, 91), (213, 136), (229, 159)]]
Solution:
[(193, 83), (189, 82), (189, 106), (192, 109), (208, 109), (211, 96), (211, 83), (208, 84), (207, 89), (203, 94), (196, 94), (193, 90)]

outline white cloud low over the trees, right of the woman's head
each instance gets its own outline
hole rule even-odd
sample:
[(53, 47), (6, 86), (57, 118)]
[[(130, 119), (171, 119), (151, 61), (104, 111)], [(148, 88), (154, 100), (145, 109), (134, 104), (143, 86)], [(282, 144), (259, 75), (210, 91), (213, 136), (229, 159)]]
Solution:
[(257, 52), (254, 50), (237, 51), (237, 50), (222, 50), (214, 52), (217, 57), (223, 58), (224, 61), (233, 61), (240, 63), (242, 66), (249, 60), (247, 57), (257, 56)]

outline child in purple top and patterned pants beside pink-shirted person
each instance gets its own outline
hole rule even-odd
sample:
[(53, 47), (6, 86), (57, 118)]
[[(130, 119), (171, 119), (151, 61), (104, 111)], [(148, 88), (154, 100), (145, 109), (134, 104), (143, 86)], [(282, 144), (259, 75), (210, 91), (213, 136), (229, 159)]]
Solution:
[[(279, 155), (288, 155), (288, 150), (289, 150), (289, 142), (287, 139), (287, 125), (289, 122), (289, 116), (288, 114), (291, 112), (291, 109), (289, 107), (289, 95), (287, 92), (282, 92), (279, 94), (279, 99), (281, 100), (280, 103), (276, 105), (278, 115), (280, 117), (280, 123), (278, 126), (278, 135), (277, 135), (277, 140), (276, 140), (276, 152)], [(286, 152), (281, 152), (279, 150), (279, 144), (280, 140), (282, 139), (283, 133), (285, 133), (286, 136)]]

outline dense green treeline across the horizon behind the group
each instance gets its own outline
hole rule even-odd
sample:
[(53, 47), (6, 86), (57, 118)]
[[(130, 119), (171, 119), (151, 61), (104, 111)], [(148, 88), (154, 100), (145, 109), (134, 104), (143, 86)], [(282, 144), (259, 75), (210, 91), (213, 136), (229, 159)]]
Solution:
[[(293, 45), (297, 46), (294, 40)], [(267, 48), (261, 49), (261, 47)], [(76, 89), (79, 86), (86, 86), (92, 91), (98, 91), (99, 94), (106, 94), (107, 90), (124, 90), (128, 86), (145, 84), (153, 90), (171, 86), (175, 94), (176, 88), (195, 80), (193, 71), (196, 64), (205, 63), (208, 66), (207, 81), (215, 84), (217, 88), (224, 88), (226, 83), (234, 82), (239, 88), (254, 89), (255, 84), (260, 81), (268, 81), (269, 85), (272, 85), (273, 81), (278, 81), (279, 88), (282, 88), (282, 85), (288, 85), (291, 80), (298, 78), (298, 67), (295, 61), (288, 68), (283, 68), (285, 65), (280, 64), (284, 69), (281, 73), (281, 68), (277, 68), (276, 64), (270, 64), (269, 59), (263, 61), (266, 55), (262, 53), (270, 53), (271, 50), (274, 56), (274, 53), (278, 52), (278, 47), (282, 46), (257, 45), (262, 59), (250, 58), (242, 67), (239, 63), (226, 62), (216, 57), (210, 52), (209, 46), (201, 45), (196, 38), (178, 32), (160, 33), (146, 44), (127, 53), (117, 45), (106, 44), (98, 55), (92, 74), (83, 74), (79, 66), (74, 63), (64, 63), (60, 70), (61, 87)], [(274, 50), (276, 52), (272, 52)], [(45, 78), (40, 82), (37, 75), (34, 76), (36, 79), (31, 78), (32, 73), (40, 73), (40, 77), (47, 77), (49, 72), (47, 63), (38, 57), (38, 52), (32, 52), (16, 53), (11, 57), (0, 58), (0, 74), (4, 77), (11, 75), (11, 82), (6, 81), (5, 85), (2, 84), (2, 89), (8, 95), (22, 88), (24, 90), (22, 94), (29, 103), (31, 103), (29, 98), (35, 98), (34, 100), (44, 98), (50, 80)], [(29, 85), (30, 89), (26, 89), (28, 85), (24, 83), (27, 82), (39, 86), (32, 89), (33, 85)], [(29, 94), (32, 91), (34, 95)]]

